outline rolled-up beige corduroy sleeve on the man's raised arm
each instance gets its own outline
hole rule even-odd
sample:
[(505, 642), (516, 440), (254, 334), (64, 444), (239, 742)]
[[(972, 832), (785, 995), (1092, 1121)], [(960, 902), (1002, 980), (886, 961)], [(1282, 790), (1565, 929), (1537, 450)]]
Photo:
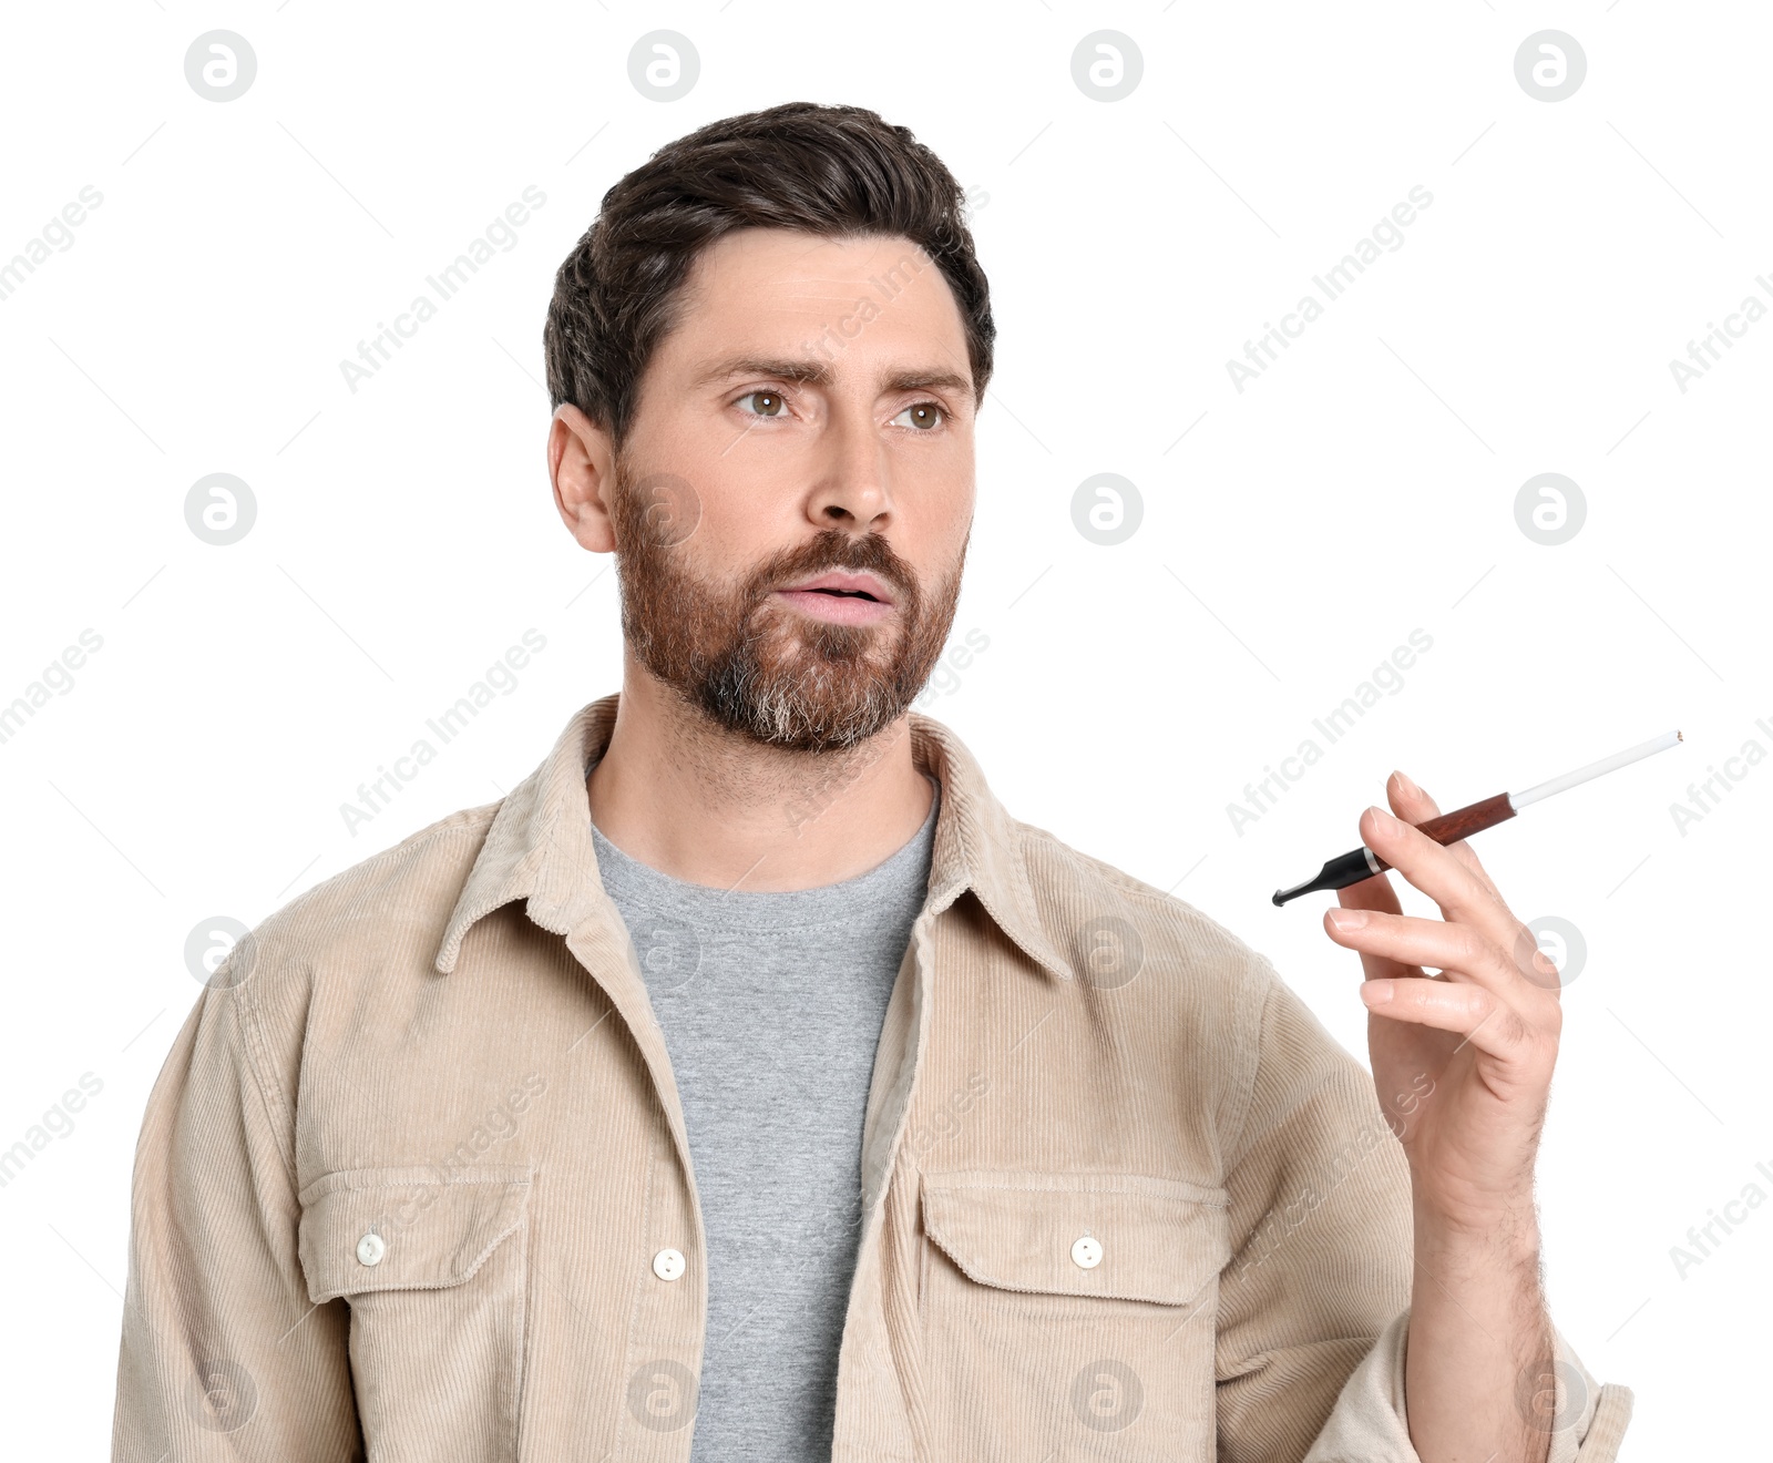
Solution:
[[(1232, 1257), (1220, 1275), (1223, 1463), (1420, 1463), (1404, 1410), (1410, 1169), (1372, 1078), (1257, 958), (1254, 1080), (1227, 1147)], [(1408, 1110), (1411, 1092), (1388, 1094)], [(1541, 1403), (1548, 1463), (1608, 1463), (1631, 1392), (1566, 1339)]]

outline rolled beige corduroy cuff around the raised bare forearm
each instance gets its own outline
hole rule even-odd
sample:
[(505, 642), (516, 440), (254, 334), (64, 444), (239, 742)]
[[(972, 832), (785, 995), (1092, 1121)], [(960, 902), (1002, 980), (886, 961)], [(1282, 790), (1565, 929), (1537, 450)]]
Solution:
[[(1303, 1463), (1422, 1463), (1404, 1412), (1410, 1310), (1379, 1334), (1349, 1374)], [(1631, 1420), (1631, 1389), (1599, 1385), (1562, 1332), (1551, 1328), (1557, 1378), (1546, 1463), (1613, 1463)]]

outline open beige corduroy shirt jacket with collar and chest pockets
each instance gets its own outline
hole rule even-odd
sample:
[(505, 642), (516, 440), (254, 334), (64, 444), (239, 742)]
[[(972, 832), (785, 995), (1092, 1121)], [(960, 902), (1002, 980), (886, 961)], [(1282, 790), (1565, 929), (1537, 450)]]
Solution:
[[(137, 1149), (117, 1463), (690, 1458), (702, 1220), (585, 793), (615, 704), (204, 990)], [(1259, 954), (910, 731), (943, 798), (833, 1458), (1415, 1459), (1410, 1186), (1367, 1073)], [(1631, 1394), (1558, 1360), (1551, 1458), (1612, 1459)]]

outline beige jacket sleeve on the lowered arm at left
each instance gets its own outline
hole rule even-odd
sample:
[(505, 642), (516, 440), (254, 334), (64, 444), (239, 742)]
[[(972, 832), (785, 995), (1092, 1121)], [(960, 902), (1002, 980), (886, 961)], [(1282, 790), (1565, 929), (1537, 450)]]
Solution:
[(246, 990), (204, 991), (142, 1119), (113, 1463), (362, 1456), (348, 1312), (307, 1296), (287, 1089), (254, 1064)]

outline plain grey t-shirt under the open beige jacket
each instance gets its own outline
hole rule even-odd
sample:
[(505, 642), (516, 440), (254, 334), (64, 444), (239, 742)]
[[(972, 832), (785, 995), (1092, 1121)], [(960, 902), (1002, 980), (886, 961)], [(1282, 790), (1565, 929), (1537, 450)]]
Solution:
[(709, 888), (592, 826), (665, 1032), (707, 1232), (691, 1463), (828, 1463), (862, 1232), (862, 1119), (886, 998), (924, 908), (917, 835), (842, 883)]

